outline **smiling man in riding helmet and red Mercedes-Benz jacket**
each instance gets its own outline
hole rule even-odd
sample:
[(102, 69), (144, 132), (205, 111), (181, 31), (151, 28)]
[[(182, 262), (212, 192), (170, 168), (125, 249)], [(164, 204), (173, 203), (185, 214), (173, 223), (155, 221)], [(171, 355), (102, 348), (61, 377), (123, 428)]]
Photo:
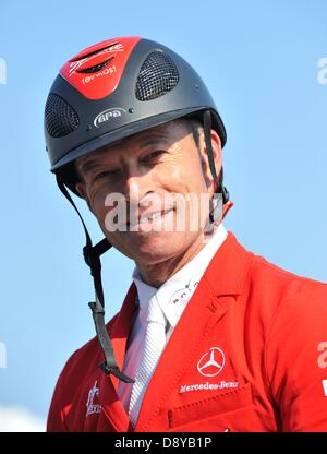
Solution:
[[(97, 338), (65, 365), (48, 430), (327, 430), (327, 286), (225, 230), (226, 131), (195, 71), (147, 39), (100, 43), (61, 69), (45, 131), (61, 191), (106, 236), (93, 247), (81, 218)], [(135, 271), (105, 326), (110, 246)]]

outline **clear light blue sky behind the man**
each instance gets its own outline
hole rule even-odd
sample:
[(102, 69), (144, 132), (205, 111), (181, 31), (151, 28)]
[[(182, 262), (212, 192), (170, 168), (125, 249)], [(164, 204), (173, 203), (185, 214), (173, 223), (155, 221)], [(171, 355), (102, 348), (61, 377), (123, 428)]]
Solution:
[[(327, 282), (327, 71), (318, 68), (327, 58), (326, 23), (325, 0), (3, 2), (0, 406), (45, 418), (65, 360), (94, 335), (84, 234), (49, 172), (43, 136), (45, 101), (61, 65), (84, 47), (134, 35), (185, 58), (227, 128), (234, 207), (226, 227), (277, 265)], [(117, 251), (104, 259), (108, 320), (132, 270)]]

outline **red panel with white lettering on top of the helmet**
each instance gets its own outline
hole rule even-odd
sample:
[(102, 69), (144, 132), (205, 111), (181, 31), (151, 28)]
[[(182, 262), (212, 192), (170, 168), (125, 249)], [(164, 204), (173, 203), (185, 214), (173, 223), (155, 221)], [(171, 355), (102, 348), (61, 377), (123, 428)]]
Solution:
[(77, 53), (60, 74), (88, 99), (101, 99), (117, 88), (140, 37), (107, 39)]

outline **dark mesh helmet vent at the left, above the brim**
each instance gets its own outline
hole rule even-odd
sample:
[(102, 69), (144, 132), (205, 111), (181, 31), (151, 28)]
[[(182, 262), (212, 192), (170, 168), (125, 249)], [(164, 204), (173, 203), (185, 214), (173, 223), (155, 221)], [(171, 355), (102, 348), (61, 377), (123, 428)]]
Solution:
[(46, 104), (45, 123), (49, 135), (62, 138), (77, 128), (80, 119), (65, 100), (50, 93)]

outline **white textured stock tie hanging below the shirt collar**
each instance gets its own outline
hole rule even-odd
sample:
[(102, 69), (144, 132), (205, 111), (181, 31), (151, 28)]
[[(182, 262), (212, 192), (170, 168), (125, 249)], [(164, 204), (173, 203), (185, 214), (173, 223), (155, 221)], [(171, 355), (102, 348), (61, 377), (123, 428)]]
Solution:
[(133, 426), (137, 421), (144, 393), (166, 345), (166, 319), (156, 297), (149, 300), (146, 323), (143, 354), (136, 369), (129, 407)]

